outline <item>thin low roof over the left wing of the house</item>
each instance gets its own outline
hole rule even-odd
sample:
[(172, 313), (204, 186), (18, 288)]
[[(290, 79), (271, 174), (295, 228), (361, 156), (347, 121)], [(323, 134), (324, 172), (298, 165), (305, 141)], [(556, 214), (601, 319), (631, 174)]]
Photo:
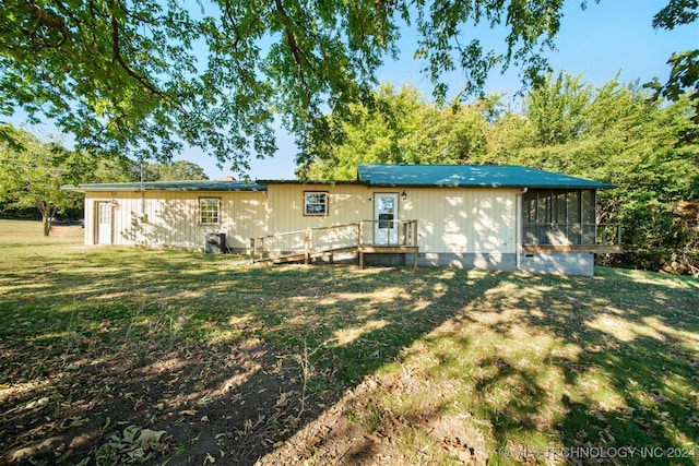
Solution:
[(67, 191), (266, 191), (254, 182), (202, 180), (202, 181), (147, 181), (144, 183), (95, 183), (63, 187)]

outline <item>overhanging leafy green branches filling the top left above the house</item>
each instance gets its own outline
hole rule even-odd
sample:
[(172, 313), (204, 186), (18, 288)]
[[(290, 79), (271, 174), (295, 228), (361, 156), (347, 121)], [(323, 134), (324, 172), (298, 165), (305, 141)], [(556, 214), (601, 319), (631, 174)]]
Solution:
[[(546, 69), (562, 0), (0, 0), (0, 112), (51, 118), (78, 148), (161, 159), (190, 144), (234, 169), (303, 146), (330, 110), (369, 101), (404, 28), (443, 99), (443, 72), (479, 89), (496, 65)], [(584, 1), (583, 1), (584, 3)], [(502, 28), (501, 50), (469, 37)]]

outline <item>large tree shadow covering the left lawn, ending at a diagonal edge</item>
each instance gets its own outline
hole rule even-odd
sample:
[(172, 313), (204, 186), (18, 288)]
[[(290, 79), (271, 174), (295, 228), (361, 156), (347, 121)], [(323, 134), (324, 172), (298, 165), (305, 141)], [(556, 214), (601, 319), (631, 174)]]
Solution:
[(452, 318), (464, 277), (118, 248), (3, 268), (0, 457), (118, 464), (135, 426), (166, 431), (153, 464), (253, 464)]

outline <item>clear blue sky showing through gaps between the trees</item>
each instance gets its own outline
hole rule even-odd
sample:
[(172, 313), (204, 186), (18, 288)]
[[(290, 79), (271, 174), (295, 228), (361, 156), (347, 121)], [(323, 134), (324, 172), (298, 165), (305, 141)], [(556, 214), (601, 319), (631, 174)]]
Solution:
[[(699, 47), (699, 24), (682, 26), (674, 31), (654, 31), (653, 15), (668, 0), (588, 0), (588, 8), (581, 10), (581, 0), (568, 0), (564, 10), (561, 28), (556, 39), (556, 51), (548, 53), (548, 60), (555, 72), (583, 74), (583, 81), (595, 85), (603, 84), (619, 75), (621, 82), (640, 80), (641, 83), (657, 76), (665, 81), (668, 74), (667, 59), (674, 51)], [(497, 31), (478, 29), (478, 36), (485, 48), (502, 50), (505, 36)], [(402, 56), (398, 62), (387, 62), (378, 73), (379, 81), (392, 82), (398, 88), (411, 83), (425, 95), (431, 94), (427, 77), (423, 76), (423, 64), (413, 60), (414, 37), (403, 32), (401, 39)], [(460, 72), (445, 76), (452, 92), (462, 84)], [(505, 75), (493, 73), (486, 84), (487, 93), (514, 97), (520, 89), (517, 70)], [(20, 123), (15, 121), (15, 123)], [(50, 129), (29, 129), (34, 132)], [(277, 132), (277, 154), (270, 159), (251, 160), (251, 179), (293, 179), (296, 147), (293, 138)], [(229, 170), (216, 167), (213, 157), (199, 150), (185, 151), (178, 159), (193, 162), (204, 168), (211, 179), (221, 179), (232, 175)], [(225, 168), (225, 167), (224, 167)]]

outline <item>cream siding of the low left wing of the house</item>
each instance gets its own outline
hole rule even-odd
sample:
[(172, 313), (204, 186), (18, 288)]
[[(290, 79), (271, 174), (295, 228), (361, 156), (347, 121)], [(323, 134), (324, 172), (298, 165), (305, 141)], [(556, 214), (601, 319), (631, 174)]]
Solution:
[[(221, 199), (220, 224), (199, 225), (199, 199)], [(85, 243), (97, 242), (95, 207), (109, 202), (112, 208), (112, 243), (151, 247), (202, 248), (209, 232), (226, 234), (229, 248), (242, 250), (248, 238), (265, 231), (265, 193), (244, 192), (86, 192)]]

